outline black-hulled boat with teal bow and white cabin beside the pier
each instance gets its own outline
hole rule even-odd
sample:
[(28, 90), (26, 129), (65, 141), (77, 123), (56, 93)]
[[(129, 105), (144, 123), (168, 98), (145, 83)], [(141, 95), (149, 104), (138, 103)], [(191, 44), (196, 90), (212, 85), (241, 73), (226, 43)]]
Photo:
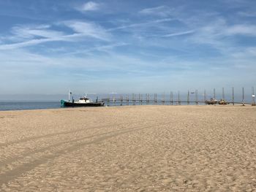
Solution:
[(61, 99), (61, 107), (102, 107), (104, 106), (103, 101), (91, 101), (86, 95), (83, 97), (80, 97), (78, 101), (75, 101), (71, 96), (71, 92), (69, 91), (69, 100), (63, 100)]

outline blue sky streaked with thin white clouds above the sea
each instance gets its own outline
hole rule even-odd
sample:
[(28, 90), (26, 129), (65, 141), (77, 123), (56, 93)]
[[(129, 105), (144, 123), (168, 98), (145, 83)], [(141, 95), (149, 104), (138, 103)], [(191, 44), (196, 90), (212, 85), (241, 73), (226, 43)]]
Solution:
[(1, 94), (256, 87), (256, 1), (0, 1)]

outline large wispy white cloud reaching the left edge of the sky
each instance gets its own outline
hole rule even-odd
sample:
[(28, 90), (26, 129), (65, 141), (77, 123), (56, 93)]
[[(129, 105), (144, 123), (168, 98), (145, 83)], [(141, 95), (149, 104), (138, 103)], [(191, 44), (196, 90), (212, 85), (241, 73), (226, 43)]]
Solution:
[(109, 41), (111, 37), (110, 33), (95, 23), (68, 20), (61, 24), (72, 29), (74, 33), (67, 34), (64, 31), (51, 30), (50, 25), (15, 26), (11, 30), (12, 35), (2, 38), (3, 42), (4, 40), (11, 40), (12, 43), (2, 43), (0, 50), (18, 49), (45, 42), (78, 42), (86, 38)]

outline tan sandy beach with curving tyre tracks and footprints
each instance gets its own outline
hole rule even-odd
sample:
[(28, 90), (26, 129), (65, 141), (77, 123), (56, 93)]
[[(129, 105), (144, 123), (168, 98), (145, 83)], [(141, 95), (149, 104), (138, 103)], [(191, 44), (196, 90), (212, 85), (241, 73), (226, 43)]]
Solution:
[(256, 107), (0, 112), (0, 191), (256, 191)]

